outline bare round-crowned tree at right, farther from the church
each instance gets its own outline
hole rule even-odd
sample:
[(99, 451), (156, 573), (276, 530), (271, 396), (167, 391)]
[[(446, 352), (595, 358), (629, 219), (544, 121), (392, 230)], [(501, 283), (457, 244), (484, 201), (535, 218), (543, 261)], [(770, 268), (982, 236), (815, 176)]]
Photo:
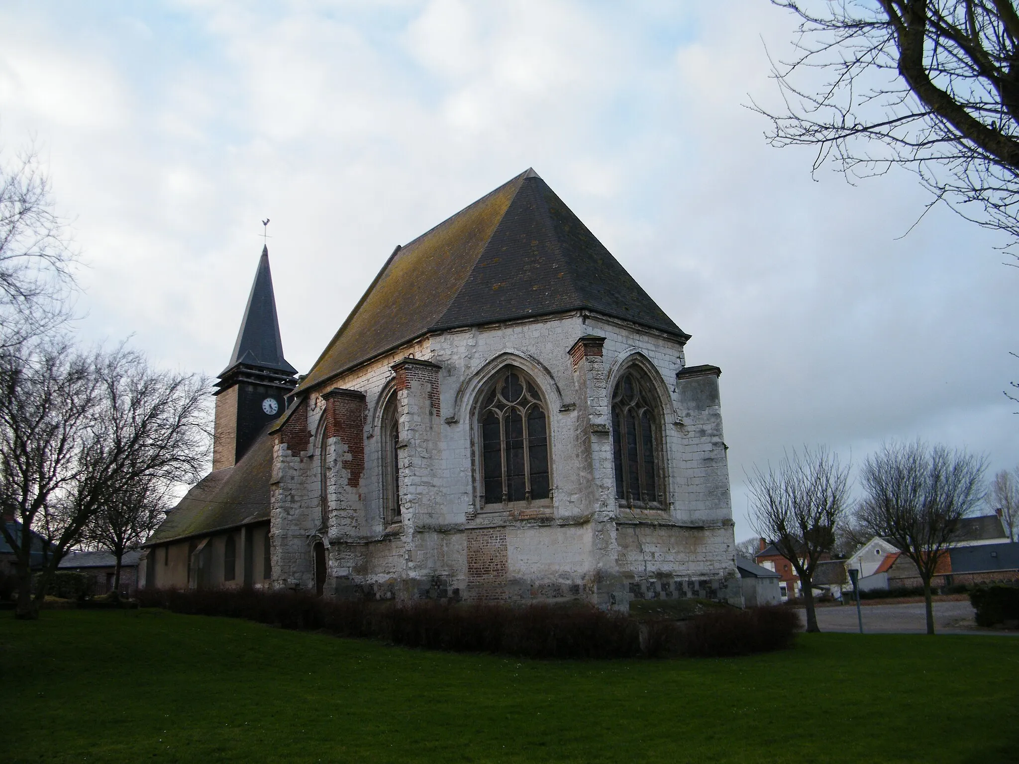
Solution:
[(949, 553), (960, 521), (983, 498), (984, 469), (982, 457), (921, 441), (887, 443), (863, 462), (860, 479), (867, 496), (857, 516), (916, 565), (927, 634), (934, 633), (930, 580)]

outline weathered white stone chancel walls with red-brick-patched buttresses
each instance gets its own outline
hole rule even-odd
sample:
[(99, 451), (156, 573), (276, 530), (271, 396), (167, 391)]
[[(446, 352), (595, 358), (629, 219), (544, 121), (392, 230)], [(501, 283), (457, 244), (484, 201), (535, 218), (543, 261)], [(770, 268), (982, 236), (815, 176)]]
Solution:
[[(540, 396), (549, 496), (493, 504), (481, 398), (507, 366)], [(618, 497), (616, 450), (638, 452), (613, 438), (613, 393), (628, 372), (653, 400), (640, 447), (656, 500)], [(275, 429), (272, 584), (313, 590), (322, 543), (330, 596), (741, 604), (719, 374), (685, 368), (676, 336), (576, 311), (434, 332), (325, 380)], [(382, 436), (390, 400), (395, 444)], [(387, 458), (395, 514), (383, 507)], [(505, 458), (506, 470), (525, 469)]]

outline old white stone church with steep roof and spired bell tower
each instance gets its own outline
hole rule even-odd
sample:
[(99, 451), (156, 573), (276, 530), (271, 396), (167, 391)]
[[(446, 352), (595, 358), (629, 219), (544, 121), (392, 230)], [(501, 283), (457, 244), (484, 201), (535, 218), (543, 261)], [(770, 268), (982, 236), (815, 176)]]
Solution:
[(146, 586), (742, 604), (720, 370), (534, 170), (396, 247), (311, 370), (263, 249)]

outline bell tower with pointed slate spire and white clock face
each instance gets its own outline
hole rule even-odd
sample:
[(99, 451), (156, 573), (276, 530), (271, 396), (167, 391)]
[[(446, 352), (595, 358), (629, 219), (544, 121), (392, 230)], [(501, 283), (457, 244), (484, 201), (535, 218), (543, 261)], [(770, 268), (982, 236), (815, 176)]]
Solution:
[(283, 358), (269, 248), (255, 272), (230, 363), (216, 383), (212, 469), (233, 467), (267, 424), (279, 417), (298, 384), (298, 370)]

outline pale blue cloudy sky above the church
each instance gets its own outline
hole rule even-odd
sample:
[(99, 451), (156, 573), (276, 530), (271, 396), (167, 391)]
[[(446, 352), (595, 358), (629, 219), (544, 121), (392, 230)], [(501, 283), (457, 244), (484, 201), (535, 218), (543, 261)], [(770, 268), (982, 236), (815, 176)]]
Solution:
[[(746, 475), (921, 437), (1019, 463), (1019, 268), (914, 176), (766, 145), (763, 0), (0, 4), (0, 148), (34, 145), (89, 341), (215, 376), (268, 239), (308, 371), (393, 247), (528, 167), (714, 364)], [(1014, 261), (1013, 261), (1014, 262)]]

